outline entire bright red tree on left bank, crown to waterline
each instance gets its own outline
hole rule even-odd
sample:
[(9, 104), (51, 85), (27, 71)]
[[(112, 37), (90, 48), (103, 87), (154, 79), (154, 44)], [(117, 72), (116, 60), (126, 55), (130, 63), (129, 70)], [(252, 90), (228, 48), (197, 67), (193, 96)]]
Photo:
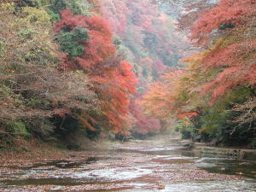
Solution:
[[(79, 42), (84, 47), (84, 54), (74, 60), (67, 58), (64, 66), (72, 70), (82, 68), (88, 74), (105, 116), (105, 119), (94, 119), (107, 122), (104, 126), (109, 126), (116, 133), (128, 134), (123, 126), (129, 118), (130, 96), (135, 93), (137, 84), (131, 64), (115, 55), (112, 32), (102, 17), (73, 15), (69, 9), (65, 9), (61, 12), (61, 20), (57, 22), (55, 31), (73, 30), (76, 26), (84, 26), (89, 30), (91, 38)], [(82, 123), (92, 130), (86, 122)]]

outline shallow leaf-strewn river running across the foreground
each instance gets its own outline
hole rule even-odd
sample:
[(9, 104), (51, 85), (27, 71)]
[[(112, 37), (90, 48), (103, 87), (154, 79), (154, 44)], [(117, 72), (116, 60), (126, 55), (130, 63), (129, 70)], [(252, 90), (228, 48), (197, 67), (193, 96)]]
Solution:
[(256, 191), (255, 162), (202, 156), (171, 144), (127, 144), (79, 162), (5, 169), (0, 191)]

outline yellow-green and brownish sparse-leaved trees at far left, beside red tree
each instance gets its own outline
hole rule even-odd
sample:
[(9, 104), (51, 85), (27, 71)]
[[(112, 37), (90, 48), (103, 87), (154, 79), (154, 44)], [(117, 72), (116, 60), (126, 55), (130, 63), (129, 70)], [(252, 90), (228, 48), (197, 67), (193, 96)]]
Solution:
[(0, 8), (0, 124), (9, 134), (30, 131), (42, 137), (49, 128), (57, 129), (50, 122), (53, 116), (97, 108), (97, 99), (84, 73), (59, 70), (63, 54), (53, 41), (47, 12), (23, 7), (14, 14), (14, 6)]

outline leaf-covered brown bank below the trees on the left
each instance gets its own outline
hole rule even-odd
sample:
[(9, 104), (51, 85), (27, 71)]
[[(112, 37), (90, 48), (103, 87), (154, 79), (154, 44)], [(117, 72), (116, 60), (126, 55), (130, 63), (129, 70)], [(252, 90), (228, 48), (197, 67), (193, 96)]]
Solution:
[[(62, 143), (44, 143), (38, 139), (15, 140), (13, 146), (0, 148), (0, 166), (10, 167), (32, 166), (37, 163), (47, 163), (56, 160), (81, 160), (89, 152), (100, 148), (101, 142), (96, 143), (84, 138), (83, 147), (69, 150)], [(86, 153), (84, 153), (86, 151)]]

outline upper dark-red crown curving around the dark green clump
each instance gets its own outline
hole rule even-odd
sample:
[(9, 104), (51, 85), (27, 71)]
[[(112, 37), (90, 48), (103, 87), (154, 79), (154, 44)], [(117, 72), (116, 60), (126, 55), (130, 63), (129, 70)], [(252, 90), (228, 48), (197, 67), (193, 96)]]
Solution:
[(80, 42), (84, 46), (84, 55), (77, 58), (77, 61), (84, 70), (90, 70), (98, 62), (115, 55), (111, 29), (102, 17), (73, 15), (70, 9), (65, 9), (61, 12), (61, 20), (56, 23), (55, 31), (73, 30), (76, 26), (84, 26), (91, 36), (89, 40)]

